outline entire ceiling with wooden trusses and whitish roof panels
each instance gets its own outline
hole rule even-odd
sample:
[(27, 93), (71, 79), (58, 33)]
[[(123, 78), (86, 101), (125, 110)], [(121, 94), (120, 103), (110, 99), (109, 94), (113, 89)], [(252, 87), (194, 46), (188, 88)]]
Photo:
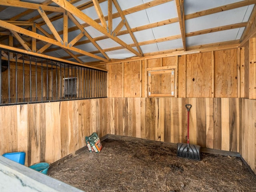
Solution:
[[(216, 1), (206, 0), (205, 2), (207, 1), (211, 8), (196, 12), (190, 10), (190, 13), (187, 10), (193, 7), (189, 4), (193, 3), (192, 0), (187, 2), (184, 0), (131, 0), (130, 4), (136, 5), (132, 7), (127, 5), (127, 0), (0, 0), (0, 47), (11, 50), (21, 49), (28, 53), (34, 52), (92, 65), (123, 58), (181, 54), (219, 46), (239, 46), (248, 34), (256, 16), (256, 0), (225, 0), (222, 1), (224, 3), (221, 6), (218, 4), (213, 6), (212, 2)], [(194, 0), (194, 2), (196, 5), (202, 0)], [(90, 16), (92, 8), (97, 17)], [(154, 12), (153, 16), (156, 18), (158, 15), (167, 14), (168, 11), (174, 16), (140, 25), (140, 20), (143, 19), (142, 12), (149, 15), (148, 10), (152, 8), (162, 10), (162, 12)], [(245, 8), (245, 14), (240, 14), (242, 9), (239, 8)], [(238, 18), (232, 24), (224, 26), (213, 25), (211, 28), (201, 26), (200, 30), (188, 30), (188, 26), (192, 25), (189, 22), (196, 18), (209, 19), (210, 17), (206, 16), (212, 16), (214, 19), (222, 12), (228, 14), (230, 10), (237, 10), (230, 14), (236, 13), (242, 17), (247, 14), (248, 19)], [(141, 13), (141, 16), (136, 19), (132, 20), (132, 17), (128, 17), (137, 13)], [(221, 19), (225, 20), (225, 18), (226, 16), (222, 16)], [(172, 24), (178, 26), (178, 33), (172, 34), (170, 30), (169, 35), (157, 34), (156, 29), (172, 26)], [(229, 30), (234, 29), (240, 30), (239, 38), (206, 44), (202, 42), (195, 46), (191, 46), (188, 42), (190, 37), (198, 37), (196, 41), (200, 43), (200, 39), (206, 37), (204, 36), (206, 34), (214, 37), (214, 33), (218, 36), (218, 32), (228, 33)], [(154, 38), (140, 39), (139, 32), (142, 36), (150, 36), (147, 30), (155, 30), (151, 32)], [(126, 39), (127, 36), (128, 39)], [(164, 42), (166, 45), (161, 48), (160, 43), (164, 45)], [(157, 49), (154, 49), (153, 45)]]

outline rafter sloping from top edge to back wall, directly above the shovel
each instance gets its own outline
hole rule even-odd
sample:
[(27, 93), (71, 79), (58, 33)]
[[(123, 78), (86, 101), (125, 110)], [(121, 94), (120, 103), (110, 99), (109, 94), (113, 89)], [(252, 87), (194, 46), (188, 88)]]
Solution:
[(185, 16), (184, 16), (184, 0), (176, 0), (178, 18), (180, 23), (180, 31), (182, 36), (183, 49), (186, 51), (186, 35), (185, 35)]

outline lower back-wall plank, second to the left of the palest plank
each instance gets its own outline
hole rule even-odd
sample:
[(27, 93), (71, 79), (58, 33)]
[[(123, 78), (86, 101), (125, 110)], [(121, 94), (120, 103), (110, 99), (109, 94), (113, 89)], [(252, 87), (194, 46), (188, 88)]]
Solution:
[(206, 98), (206, 147), (214, 148), (213, 98)]

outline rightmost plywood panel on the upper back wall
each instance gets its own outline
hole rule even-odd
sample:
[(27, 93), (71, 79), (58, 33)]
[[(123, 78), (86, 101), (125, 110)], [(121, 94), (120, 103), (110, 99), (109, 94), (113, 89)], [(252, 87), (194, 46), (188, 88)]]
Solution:
[(237, 97), (237, 49), (214, 51), (214, 96)]

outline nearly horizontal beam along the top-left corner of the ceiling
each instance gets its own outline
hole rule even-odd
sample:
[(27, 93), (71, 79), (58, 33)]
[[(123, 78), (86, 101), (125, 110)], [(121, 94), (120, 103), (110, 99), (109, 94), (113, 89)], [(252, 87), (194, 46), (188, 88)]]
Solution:
[(19, 7), (19, 8), (26, 8), (26, 9), (36, 9), (38, 10), (39, 7), (46, 11), (51, 12), (64, 12), (65, 10), (60, 7), (55, 6), (48, 6), (48, 5), (42, 5), (42, 4), (36, 4), (36, 3), (28, 3), (23, 1), (17, 1), (17, 0), (2, 0), (0, 1), (0, 5), (8, 6), (8, 7)]

